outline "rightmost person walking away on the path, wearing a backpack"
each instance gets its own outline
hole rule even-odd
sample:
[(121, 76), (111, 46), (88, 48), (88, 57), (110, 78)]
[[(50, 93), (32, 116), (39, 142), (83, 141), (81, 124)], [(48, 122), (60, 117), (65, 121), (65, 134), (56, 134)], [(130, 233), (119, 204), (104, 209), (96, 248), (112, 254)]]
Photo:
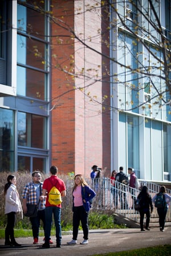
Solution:
[(164, 227), (165, 227), (165, 218), (166, 218), (166, 214), (168, 212), (169, 209), (169, 202), (171, 201), (171, 197), (169, 196), (169, 194), (166, 193), (166, 188), (165, 186), (161, 186), (160, 188), (160, 192), (157, 193), (153, 199), (152, 202), (155, 203), (156, 198), (158, 195), (160, 195), (162, 197), (164, 197), (164, 206), (161, 208), (157, 208), (157, 213), (159, 216), (159, 226), (160, 226), (160, 231), (164, 231)]

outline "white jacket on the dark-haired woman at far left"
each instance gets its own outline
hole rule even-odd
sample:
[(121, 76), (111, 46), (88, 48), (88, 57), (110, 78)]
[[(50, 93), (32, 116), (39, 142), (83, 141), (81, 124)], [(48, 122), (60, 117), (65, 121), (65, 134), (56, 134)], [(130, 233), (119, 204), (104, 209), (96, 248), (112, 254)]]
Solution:
[(5, 195), (5, 214), (10, 212), (22, 212), (21, 201), (16, 186), (11, 184)]

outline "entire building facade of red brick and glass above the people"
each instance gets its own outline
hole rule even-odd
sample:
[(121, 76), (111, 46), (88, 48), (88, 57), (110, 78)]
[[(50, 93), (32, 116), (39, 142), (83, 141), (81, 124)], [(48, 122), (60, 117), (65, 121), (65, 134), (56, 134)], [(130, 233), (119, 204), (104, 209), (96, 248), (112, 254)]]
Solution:
[[(123, 165), (171, 181), (162, 61), (138, 71), (164, 58), (149, 2), (1, 1), (0, 170), (89, 177), (94, 164), (105, 176)], [(169, 36), (170, 2), (152, 2)]]

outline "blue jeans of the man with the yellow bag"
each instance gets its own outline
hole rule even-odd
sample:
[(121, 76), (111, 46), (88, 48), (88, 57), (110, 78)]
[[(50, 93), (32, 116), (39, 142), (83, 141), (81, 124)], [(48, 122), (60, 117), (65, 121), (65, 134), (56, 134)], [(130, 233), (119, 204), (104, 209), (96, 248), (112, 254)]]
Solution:
[(49, 243), (51, 234), (52, 214), (54, 214), (55, 229), (56, 229), (56, 244), (61, 245), (62, 231), (60, 225), (60, 213), (61, 209), (56, 206), (48, 206), (45, 208), (45, 242)]

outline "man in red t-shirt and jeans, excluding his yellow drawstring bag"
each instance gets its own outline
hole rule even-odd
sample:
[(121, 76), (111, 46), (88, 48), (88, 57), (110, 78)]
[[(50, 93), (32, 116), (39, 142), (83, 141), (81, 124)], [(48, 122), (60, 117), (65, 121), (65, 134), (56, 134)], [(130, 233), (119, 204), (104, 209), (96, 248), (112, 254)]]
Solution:
[(52, 214), (54, 214), (55, 229), (56, 229), (56, 247), (61, 247), (62, 240), (62, 231), (60, 225), (60, 214), (61, 214), (61, 204), (53, 205), (50, 204), (49, 193), (50, 190), (55, 186), (59, 190), (60, 196), (66, 196), (66, 185), (64, 181), (61, 180), (58, 176), (58, 168), (56, 166), (51, 166), (50, 168), (50, 178), (46, 178), (43, 182), (43, 196), (46, 197), (46, 207), (45, 207), (45, 218), (46, 218), (46, 227), (45, 227), (45, 242), (43, 243), (43, 248), (49, 248), (49, 237), (51, 233), (51, 224), (52, 224)]

